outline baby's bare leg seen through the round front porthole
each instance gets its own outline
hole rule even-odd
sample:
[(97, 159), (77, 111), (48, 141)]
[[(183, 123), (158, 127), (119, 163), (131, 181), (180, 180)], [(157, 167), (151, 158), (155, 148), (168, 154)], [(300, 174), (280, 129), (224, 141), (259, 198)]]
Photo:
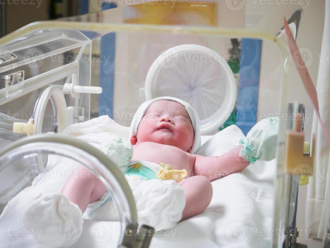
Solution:
[(78, 166), (76, 170), (77, 176), (66, 181), (61, 194), (65, 195), (70, 202), (77, 204), (83, 213), (88, 203), (99, 200), (107, 190), (102, 181), (85, 166)]

